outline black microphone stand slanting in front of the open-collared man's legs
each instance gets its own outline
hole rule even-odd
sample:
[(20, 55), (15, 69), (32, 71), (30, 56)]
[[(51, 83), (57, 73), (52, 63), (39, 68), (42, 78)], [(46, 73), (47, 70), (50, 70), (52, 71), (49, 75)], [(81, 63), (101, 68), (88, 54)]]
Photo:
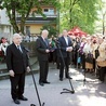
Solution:
[[(65, 69), (67, 69), (67, 68), (66, 68), (66, 65), (65, 65), (65, 62), (64, 62), (64, 57), (63, 57), (62, 51), (61, 51), (59, 42), (58, 42), (58, 41), (55, 41), (55, 43), (56, 43), (56, 47), (57, 47), (57, 49), (58, 49), (59, 55), (61, 55), (61, 57), (62, 57), (64, 67), (65, 67)], [(63, 94), (63, 93), (71, 93), (71, 94), (74, 94), (74, 93), (75, 93), (75, 90), (74, 90), (71, 80), (70, 80), (69, 78), (68, 78), (68, 80), (69, 80), (69, 84), (70, 84), (71, 90), (63, 89), (63, 92), (61, 92), (61, 94)]]

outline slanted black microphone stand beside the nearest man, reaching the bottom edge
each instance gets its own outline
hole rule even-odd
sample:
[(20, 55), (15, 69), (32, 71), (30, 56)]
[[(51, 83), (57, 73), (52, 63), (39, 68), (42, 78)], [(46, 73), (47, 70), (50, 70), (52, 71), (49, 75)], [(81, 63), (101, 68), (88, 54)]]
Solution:
[[(26, 50), (26, 52), (29, 52), (29, 51)], [(28, 56), (28, 63), (29, 63), (29, 55), (28, 55), (28, 53), (27, 53), (27, 56)], [(41, 103), (41, 100), (40, 100), (40, 96), (39, 96), (38, 88), (37, 88), (37, 84), (36, 84), (35, 76), (34, 76), (30, 63), (29, 63), (29, 67), (30, 67), (30, 70), (31, 70), (30, 72), (31, 72), (31, 76), (32, 76), (32, 81), (34, 81), (34, 84), (35, 84), (35, 90), (36, 90), (36, 93), (37, 93), (39, 106), (44, 106), (44, 103)], [(36, 106), (36, 105), (35, 104), (30, 104), (30, 106)]]

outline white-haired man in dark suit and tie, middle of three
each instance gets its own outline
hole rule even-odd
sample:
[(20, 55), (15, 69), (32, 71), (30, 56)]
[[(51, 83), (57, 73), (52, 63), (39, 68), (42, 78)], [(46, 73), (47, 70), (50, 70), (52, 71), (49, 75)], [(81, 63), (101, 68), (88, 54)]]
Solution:
[(48, 30), (42, 30), (41, 37), (37, 39), (36, 42), (36, 49), (37, 49), (37, 56), (39, 61), (39, 66), (40, 66), (40, 76), (39, 76), (39, 84), (44, 85), (44, 83), (50, 83), (48, 82), (48, 71), (49, 71), (49, 53), (50, 53), (50, 48), (49, 48), (49, 41), (48, 41)]

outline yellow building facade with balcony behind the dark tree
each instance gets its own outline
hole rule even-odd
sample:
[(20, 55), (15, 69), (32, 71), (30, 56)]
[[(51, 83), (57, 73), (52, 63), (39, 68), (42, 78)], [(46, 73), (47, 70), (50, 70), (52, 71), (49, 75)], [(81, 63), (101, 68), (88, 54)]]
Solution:
[[(56, 18), (57, 18), (56, 9), (52, 5), (42, 5), (41, 9), (42, 9), (42, 13), (45, 15), (45, 18), (41, 16), (40, 14), (36, 14), (36, 13), (35, 13), (35, 16), (32, 16), (31, 14), (36, 10), (36, 8), (34, 8), (25, 24), (26, 35), (39, 36), (41, 32), (42, 26), (47, 24), (52, 25), (53, 27), (56, 28)], [(17, 17), (17, 23), (19, 25), (21, 17), (19, 15), (17, 15), (16, 17)]]

